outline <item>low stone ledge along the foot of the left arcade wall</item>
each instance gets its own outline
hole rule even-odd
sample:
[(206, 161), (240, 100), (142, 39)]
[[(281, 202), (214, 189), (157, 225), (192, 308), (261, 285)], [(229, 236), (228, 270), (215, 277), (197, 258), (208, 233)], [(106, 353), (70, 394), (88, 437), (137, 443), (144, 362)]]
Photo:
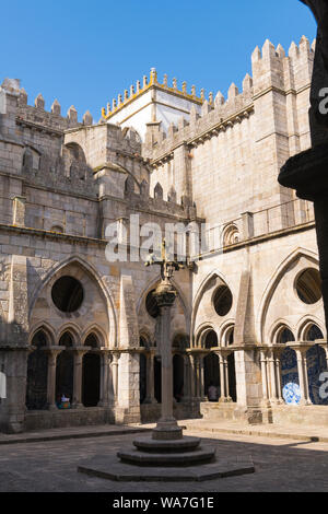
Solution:
[(63, 441), (70, 439), (103, 437), (113, 435), (128, 435), (150, 432), (152, 425), (96, 425), (74, 427), (65, 429), (40, 430), (37, 432), (25, 432), (23, 434), (1, 434), (0, 445), (19, 443), (37, 443), (46, 441)]

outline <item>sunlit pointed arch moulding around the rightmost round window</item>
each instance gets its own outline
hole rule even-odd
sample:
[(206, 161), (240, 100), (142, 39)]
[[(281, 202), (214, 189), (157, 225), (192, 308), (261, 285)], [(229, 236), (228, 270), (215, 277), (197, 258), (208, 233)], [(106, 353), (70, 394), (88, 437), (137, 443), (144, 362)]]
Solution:
[(284, 260), (278, 266), (263, 291), (260, 306), (258, 309), (258, 317), (256, 319), (256, 334), (257, 339), (259, 341), (263, 341), (265, 339), (265, 318), (278, 284), (280, 283), (281, 279), (285, 274), (286, 270), (291, 267), (291, 265), (293, 262), (296, 262), (302, 257), (305, 257), (306, 259), (311, 260), (317, 268), (319, 267), (318, 254), (302, 247), (298, 247), (291, 254), (289, 254), (284, 258)]

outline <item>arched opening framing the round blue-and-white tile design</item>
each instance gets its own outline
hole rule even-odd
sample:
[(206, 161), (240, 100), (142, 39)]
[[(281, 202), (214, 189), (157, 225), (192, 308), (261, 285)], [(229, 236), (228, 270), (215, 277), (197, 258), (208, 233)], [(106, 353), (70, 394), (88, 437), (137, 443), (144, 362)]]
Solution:
[[(295, 337), (289, 327), (282, 327), (277, 335), (279, 344), (295, 341)], [(280, 357), (282, 396), (288, 405), (298, 405), (301, 401), (301, 388), (296, 352), (292, 348), (283, 350)]]

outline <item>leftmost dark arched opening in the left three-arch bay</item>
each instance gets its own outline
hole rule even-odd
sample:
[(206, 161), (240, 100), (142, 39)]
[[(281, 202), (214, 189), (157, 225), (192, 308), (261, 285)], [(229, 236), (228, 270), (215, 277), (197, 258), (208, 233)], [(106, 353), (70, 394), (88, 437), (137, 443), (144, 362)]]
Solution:
[(38, 331), (32, 346), (36, 348), (27, 359), (26, 408), (27, 410), (47, 409), (48, 355), (45, 352), (47, 338)]

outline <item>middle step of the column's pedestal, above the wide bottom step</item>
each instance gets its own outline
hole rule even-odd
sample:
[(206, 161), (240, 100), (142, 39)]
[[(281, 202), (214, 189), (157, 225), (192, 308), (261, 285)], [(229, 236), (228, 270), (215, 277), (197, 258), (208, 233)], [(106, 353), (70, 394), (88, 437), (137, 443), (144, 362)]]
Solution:
[(192, 452), (185, 453), (149, 453), (131, 448), (118, 452), (117, 456), (122, 463), (134, 464), (137, 466), (195, 466), (198, 464), (211, 463), (215, 457), (215, 448), (212, 446), (200, 447)]

